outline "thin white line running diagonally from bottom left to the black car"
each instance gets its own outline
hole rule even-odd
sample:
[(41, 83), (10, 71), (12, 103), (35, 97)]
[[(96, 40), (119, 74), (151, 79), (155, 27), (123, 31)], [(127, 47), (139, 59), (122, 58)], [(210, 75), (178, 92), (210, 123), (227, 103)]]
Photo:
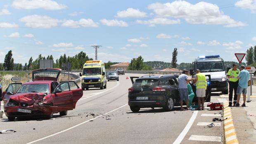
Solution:
[[(95, 117), (95, 118), (92, 118), (92, 119), (90, 119), (90, 120), (94, 120), (94, 119), (96, 119), (96, 118), (100, 118), (100, 117), (102, 117), (103, 115), (107, 115), (107, 114), (109, 114), (109, 113), (112, 113), (113, 111), (116, 111), (116, 110), (118, 110), (118, 109), (121, 109), (122, 107), (127, 106), (127, 105), (128, 105), (128, 104), (125, 104), (125, 105), (123, 105), (123, 106), (120, 106), (120, 107), (117, 108), (117, 109), (114, 109), (114, 110), (112, 110), (112, 111), (109, 111), (109, 112), (107, 112), (107, 113), (104, 113), (104, 114), (102, 114), (102, 115), (100, 115), (100, 116), (97, 116), (97, 117)], [(28, 142), (28, 143), (26, 143), (26, 144), (33, 144), (33, 143), (38, 142), (38, 141), (40, 141), (40, 140), (47, 139), (48, 137), (52, 137), (52, 136), (58, 135), (58, 134), (60, 134), (60, 133), (62, 133), (62, 132), (66, 132), (66, 131), (71, 130), (71, 129), (75, 128), (75, 127), (78, 127), (79, 125), (83, 125), (83, 124), (85, 124), (85, 123), (88, 123), (90, 120), (86, 120), (86, 121), (84, 121), (83, 123), (79, 123), (79, 124), (77, 124), (77, 125), (75, 125), (75, 126), (73, 126), (73, 127), (69, 127), (69, 128), (67, 128), (66, 130), (62, 130), (62, 131), (57, 132), (57, 133), (55, 133), (55, 134), (49, 135), (49, 136), (47, 136), (47, 137), (43, 137), (43, 138), (41, 138), (41, 139), (34, 140), (33, 142)]]

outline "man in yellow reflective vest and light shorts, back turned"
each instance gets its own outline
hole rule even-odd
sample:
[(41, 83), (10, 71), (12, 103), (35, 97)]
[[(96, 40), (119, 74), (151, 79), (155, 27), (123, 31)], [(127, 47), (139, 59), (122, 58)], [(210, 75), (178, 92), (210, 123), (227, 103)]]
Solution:
[(200, 73), (200, 70), (197, 69), (197, 74), (195, 76), (194, 83), (196, 83), (197, 87), (197, 100), (198, 100), (198, 109), (204, 110), (204, 97), (207, 88), (207, 81), (204, 74)]

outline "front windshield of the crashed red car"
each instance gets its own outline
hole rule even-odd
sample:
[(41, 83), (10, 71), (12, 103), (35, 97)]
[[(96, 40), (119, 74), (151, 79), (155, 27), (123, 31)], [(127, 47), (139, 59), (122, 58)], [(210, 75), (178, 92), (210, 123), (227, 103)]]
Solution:
[(49, 85), (48, 84), (27, 84), (21, 85), (17, 93), (25, 93), (25, 92), (43, 92), (49, 93)]

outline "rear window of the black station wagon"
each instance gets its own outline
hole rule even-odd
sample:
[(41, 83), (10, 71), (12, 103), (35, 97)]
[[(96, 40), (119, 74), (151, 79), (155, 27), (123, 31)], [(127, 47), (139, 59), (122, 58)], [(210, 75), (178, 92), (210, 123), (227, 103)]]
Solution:
[(133, 87), (155, 87), (158, 85), (159, 80), (156, 79), (137, 79)]

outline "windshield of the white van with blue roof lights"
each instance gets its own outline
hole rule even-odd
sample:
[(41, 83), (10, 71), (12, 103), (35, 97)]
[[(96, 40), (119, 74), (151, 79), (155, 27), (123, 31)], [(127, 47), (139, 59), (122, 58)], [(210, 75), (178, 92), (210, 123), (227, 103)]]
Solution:
[(197, 69), (201, 72), (225, 71), (222, 61), (199, 62)]

